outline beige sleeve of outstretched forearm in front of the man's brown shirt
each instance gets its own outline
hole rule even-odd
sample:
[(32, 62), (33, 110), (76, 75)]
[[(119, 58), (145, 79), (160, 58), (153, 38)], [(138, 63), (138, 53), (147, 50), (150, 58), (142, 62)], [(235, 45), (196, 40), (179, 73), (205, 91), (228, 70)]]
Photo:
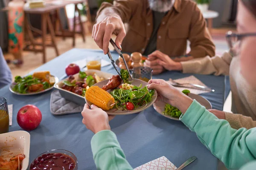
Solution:
[(228, 52), (225, 52), (221, 57), (215, 56), (210, 58), (207, 56), (180, 63), (183, 73), (214, 74), (218, 76), (221, 74), (229, 75), (231, 60), (232, 56)]

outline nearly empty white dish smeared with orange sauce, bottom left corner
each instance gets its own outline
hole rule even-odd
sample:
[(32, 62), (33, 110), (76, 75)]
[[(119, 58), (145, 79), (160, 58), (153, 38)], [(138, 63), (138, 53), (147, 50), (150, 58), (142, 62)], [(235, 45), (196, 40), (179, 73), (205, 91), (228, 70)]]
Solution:
[(30, 134), (23, 130), (0, 134), (0, 156), (9, 161), (18, 154), (24, 154), (21, 170), (29, 167)]

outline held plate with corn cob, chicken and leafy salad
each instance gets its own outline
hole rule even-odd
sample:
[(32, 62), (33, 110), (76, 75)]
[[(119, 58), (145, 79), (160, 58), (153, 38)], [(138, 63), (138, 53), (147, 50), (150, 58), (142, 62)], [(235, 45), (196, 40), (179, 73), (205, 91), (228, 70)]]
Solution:
[(157, 91), (148, 90), (148, 83), (129, 79), (128, 71), (121, 70), (121, 77), (114, 75), (109, 80), (98, 82), (85, 93), (88, 105), (96, 105), (110, 115), (126, 115), (143, 111), (153, 105)]

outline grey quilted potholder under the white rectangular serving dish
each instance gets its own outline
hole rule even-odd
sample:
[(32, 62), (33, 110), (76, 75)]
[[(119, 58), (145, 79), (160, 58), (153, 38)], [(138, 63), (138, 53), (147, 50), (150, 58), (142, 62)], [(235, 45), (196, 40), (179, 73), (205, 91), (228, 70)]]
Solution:
[(55, 90), (51, 93), (50, 110), (54, 115), (81, 113), (83, 106), (62, 98), (59, 91)]

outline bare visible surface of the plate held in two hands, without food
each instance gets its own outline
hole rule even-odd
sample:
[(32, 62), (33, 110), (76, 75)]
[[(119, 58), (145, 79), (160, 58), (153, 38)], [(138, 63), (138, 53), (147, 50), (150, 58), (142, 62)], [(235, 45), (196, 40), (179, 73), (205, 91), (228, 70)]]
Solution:
[[(96, 83), (95, 85), (93, 86), (99, 86), (99, 88), (102, 88), (103, 85), (106, 85), (108, 83), (108, 80), (104, 80), (102, 82), (98, 82)], [(142, 88), (144, 88), (146, 85), (148, 85), (147, 82), (144, 82), (140, 79), (132, 79), (132, 82), (131, 82), (132, 85), (136, 85), (136, 86), (140, 86), (142, 84)], [(108, 92), (110, 93), (111, 91), (113, 90), (108, 90)], [(92, 105), (91, 102), (88, 102), (84, 96), (84, 99), (86, 101), (86, 103), (88, 105)], [(148, 102), (147, 104), (144, 104), (138, 108), (136, 108), (135, 110), (133, 111), (122, 111), (122, 110), (116, 110), (116, 108), (113, 108), (113, 109), (110, 109), (109, 111), (106, 111), (109, 115), (127, 115), (127, 114), (134, 114), (134, 113), (138, 113), (138, 112), (141, 112), (141, 111), (144, 111), (145, 109), (149, 108), (151, 105), (153, 105), (153, 103), (157, 100), (157, 91), (154, 92), (154, 95), (152, 96), (151, 98), (151, 101)]]

